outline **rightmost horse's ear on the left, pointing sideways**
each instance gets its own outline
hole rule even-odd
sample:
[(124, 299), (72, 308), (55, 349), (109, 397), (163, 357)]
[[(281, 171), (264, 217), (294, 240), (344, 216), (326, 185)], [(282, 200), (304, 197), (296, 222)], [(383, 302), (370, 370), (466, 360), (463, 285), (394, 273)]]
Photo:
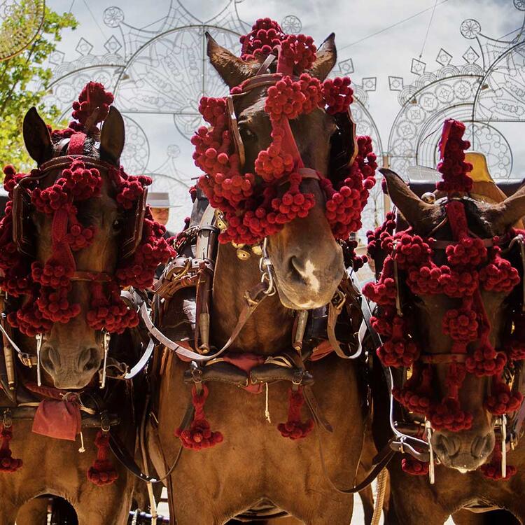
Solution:
[(383, 174), (388, 188), (388, 196), (391, 198), (395, 207), (402, 213), (409, 225), (418, 232), (429, 232), (433, 228), (433, 215), (436, 207), (422, 201), (401, 179), (401, 177), (391, 169), (381, 168), (379, 172)]

